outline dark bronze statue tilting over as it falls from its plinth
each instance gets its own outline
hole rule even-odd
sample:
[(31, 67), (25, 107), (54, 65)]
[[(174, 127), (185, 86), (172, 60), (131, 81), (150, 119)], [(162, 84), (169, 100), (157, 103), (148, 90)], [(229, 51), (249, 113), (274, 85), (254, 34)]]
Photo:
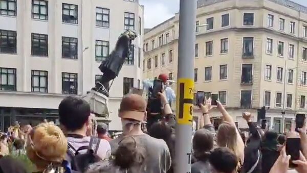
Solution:
[(125, 31), (119, 36), (115, 49), (108, 58), (100, 64), (99, 69), (103, 73), (103, 76), (96, 82), (96, 86), (92, 90), (108, 96), (109, 81), (114, 80), (118, 76), (125, 58), (128, 57), (131, 54), (131, 50), (133, 50), (131, 48), (131, 46), (133, 46), (131, 42), (136, 37), (137, 34), (130, 30)]

